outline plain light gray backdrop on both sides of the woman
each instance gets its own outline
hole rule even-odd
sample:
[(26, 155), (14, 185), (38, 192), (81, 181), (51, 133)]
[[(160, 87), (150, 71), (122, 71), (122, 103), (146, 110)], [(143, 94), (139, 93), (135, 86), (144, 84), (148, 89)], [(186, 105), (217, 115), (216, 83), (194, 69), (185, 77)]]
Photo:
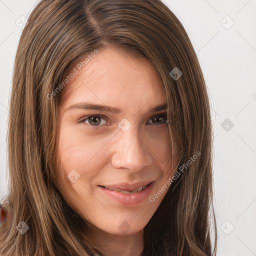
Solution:
[[(7, 189), (6, 121), (18, 22), (37, 2), (0, 0), (0, 197)], [(212, 104), (217, 255), (256, 255), (256, 0), (164, 2), (192, 41)]]

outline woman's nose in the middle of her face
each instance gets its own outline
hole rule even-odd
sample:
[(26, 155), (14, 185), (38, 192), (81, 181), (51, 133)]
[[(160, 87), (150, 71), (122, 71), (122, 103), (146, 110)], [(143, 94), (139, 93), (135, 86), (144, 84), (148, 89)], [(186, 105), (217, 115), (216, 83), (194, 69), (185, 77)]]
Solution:
[(126, 131), (119, 131), (111, 157), (112, 166), (138, 171), (153, 162), (152, 152), (147, 147), (146, 137), (136, 132), (133, 125)]

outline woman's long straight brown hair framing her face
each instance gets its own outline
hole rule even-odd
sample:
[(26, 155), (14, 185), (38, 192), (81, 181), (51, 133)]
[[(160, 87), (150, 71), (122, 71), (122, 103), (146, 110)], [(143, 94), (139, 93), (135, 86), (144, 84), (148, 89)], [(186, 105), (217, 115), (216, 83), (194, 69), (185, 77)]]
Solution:
[[(11, 218), (0, 228), (1, 255), (101, 254), (93, 241), (83, 237), (79, 228), (83, 219), (57, 189), (60, 93), (52, 95), (52, 91), (75, 63), (107, 45), (143, 55), (154, 66), (166, 96), (178, 165), (185, 166), (144, 227), (141, 255), (215, 255), (207, 90), (187, 33), (160, 0), (42, 0), (33, 9), (13, 71), (8, 203), (3, 203)], [(171, 70), (181, 76), (175, 79)], [(196, 152), (200, 152), (196, 161), (186, 164)], [(213, 213), (213, 246), (209, 212)], [(15, 228), (20, 221), (29, 227), (24, 234)]]

